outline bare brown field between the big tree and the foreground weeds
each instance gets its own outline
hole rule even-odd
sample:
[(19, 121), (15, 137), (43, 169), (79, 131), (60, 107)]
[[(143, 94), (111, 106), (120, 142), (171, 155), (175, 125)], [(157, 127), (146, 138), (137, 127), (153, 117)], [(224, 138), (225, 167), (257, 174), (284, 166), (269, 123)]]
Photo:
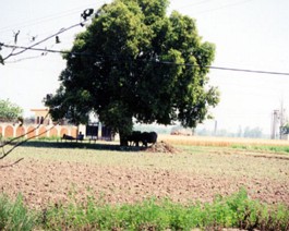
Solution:
[(112, 204), (150, 197), (212, 202), (216, 194), (229, 195), (241, 186), (252, 198), (289, 206), (286, 155), (225, 148), (181, 151), (166, 143), (146, 151), (27, 146), (0, 160), (4, 166), (10, 167), (0, 168), (0, 193), (21, 193), (37, 208), (88, 195)]

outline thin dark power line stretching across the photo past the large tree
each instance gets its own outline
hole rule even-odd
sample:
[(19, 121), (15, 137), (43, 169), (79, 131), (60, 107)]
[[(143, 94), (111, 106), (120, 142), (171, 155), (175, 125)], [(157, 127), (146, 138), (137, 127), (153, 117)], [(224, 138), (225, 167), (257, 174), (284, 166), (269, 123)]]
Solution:
[[(76, 25), (79, 25), (79, 24), (76, 24)], [(67, 29), (69, 29), (69, 28), (67, 28)], [(53, 37), (56, 35), (57, 34), (55, 34), (50, 37)], [(39, 44), (39, 42), (37, 42), (37, 44)], [(34, 46), (36, 46), (37, 44), (29, 46), (29, 47), (23, 47), (23, 46), (15, 46), (15, 45), (5, 45), (5, 44), (0, 42), (0, 46), (7, 47), (7, 48), (12, 48), (12, 49), (23, 49), (22, 51), (19, 51), (15, 54), (22, 53), (26, 50), (35, 50), (35, 51), (51, 52), (51, 53), (67, 53), (67, 54), (71, 54), (71, 56), (85, 56), (85, 57), (95, 57), (95, 58), (116, 58), (116, 56), (112, 56), (112, 54), (111, 56), (103, 56), (103, 54), (95, 54), (95, 53), (71, 52), (71, 51), (55, 50), (55, 49), (35, 48)], [(125, 59), (123, 59), (123, 57), (121, 59), (118, 59), (119, 62), (122, 62)], [(202, 66), (202, 65), (192, 64), (192, 63), (177, 63), (177, 62), (161, 61), (161, 60), (136, 60), (136, 61), (155, 62), (155, 63), (168, 64), (168, 65), (200, 66), (200, 68), (207, 68), (207, 69), (212, 69), (212, 70), (220, 70), (220, 71), (246, 72), (246, 73), (270, 74), (270, 75), (288, 75), (289, 76), (289, 72), (261, 71), (261, 70), (237, 69), (237, 68), (214, 66), (214, 65)]]

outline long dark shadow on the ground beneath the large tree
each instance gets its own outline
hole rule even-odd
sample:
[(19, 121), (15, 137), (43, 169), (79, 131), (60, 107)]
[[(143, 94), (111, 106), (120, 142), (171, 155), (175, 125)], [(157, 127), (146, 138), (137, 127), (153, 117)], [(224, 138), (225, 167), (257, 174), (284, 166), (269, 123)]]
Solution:
[(104, 144), (104, 143), (86, 143), (86, 142), (46, 142), (46, 141), (28, 141), (22, 144), (23, 147), (37, 148), (80, 148), (94, 150), (117, 150), (117, 151), (141, 151), (146, 147), (128, 146), (123, 147), (119, 144)]

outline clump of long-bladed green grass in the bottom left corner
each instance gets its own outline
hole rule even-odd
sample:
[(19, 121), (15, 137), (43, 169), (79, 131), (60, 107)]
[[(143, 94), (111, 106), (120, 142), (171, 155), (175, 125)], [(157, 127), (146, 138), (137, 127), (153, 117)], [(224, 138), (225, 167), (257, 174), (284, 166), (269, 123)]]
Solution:
[(12, 203), (7, 195), (0, 195), (0, 230), (33, 230), (36, 217), (23, 204), (21, 196)]

